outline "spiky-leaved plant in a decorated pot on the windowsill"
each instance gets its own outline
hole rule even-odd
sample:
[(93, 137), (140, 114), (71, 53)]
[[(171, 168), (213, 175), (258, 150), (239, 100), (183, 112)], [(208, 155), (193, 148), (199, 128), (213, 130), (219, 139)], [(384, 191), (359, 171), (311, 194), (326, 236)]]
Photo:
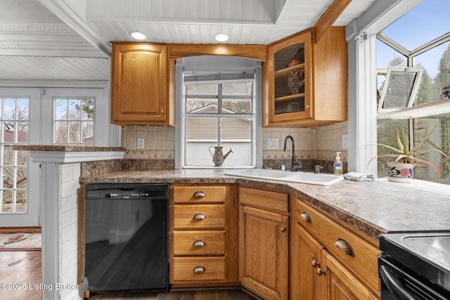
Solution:
[(388, 150), (392, 150), (392, 153), (389, 154), (383, 154), (383, 155), (377, 155), (373, 157), (368, 164), (370, 164), (373, 159), (380, 158), (380, 157), (392, 157), (392, 159), (389, 159), (387, 161), (387, 168), (388, 168), (388, 177), (387, 179), (390, 181), (397, 181), (397, 182), (406, 182), (410, 183), (413, 180), (413, 169), (416, 167), (417, 164), (428, 164), (428, 166), (435, 169), (437, 174), (439, 175), (439, 178), (442, 178), (442, 172), (441, 170), (435, 166), (435, 164), (432, 164), (432, 162), (428, 162), (425, 159), (420, 159), (417, 156), (423, 155), (428, 152), (439, 152), (440, 154), (447, 156), (444, 152), (438, 149), (424, 149), (424, 150), (418, 150), (420, 145), (422, 145), (425, 141), (427, 141), (428, 137), (431, 136), (431, 133), (435, 131), (435, 128), (432, 129), (422, 140), (418, 141), (416, 145), (410, 149), (409, 148), (409, 138), (406, 135), (404, 129), (401, 129), (401, 133), (403, 136), (403, 142), (400, 139), (400, 131), (398, 128), (396, 128), (397, 131), (397, 148), (394, 148), (390, 145), (386, 144), (376, 144), (379, 146), (382, 146), (384, 148), (387, 148)]

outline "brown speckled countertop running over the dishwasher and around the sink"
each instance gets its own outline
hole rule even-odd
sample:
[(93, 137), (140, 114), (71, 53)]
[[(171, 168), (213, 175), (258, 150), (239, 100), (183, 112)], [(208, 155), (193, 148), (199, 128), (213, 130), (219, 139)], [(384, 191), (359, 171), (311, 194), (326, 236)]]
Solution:
[(283, 183), (224, 175), (224, 169), (117, 171), (82, 176), (85, 183), (240, 183), (295, 193), (367, 235), (396, 231), (450, 230), (450, 195), (407, 183), (343, 180), (330, 186)]

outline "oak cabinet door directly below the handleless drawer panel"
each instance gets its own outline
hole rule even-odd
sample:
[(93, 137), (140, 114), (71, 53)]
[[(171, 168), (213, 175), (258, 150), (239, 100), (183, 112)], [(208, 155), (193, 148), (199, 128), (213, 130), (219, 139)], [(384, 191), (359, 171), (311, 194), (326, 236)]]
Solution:
[(289, 217), (240, 206), (240, 282), (264, 299), (288, 299)]

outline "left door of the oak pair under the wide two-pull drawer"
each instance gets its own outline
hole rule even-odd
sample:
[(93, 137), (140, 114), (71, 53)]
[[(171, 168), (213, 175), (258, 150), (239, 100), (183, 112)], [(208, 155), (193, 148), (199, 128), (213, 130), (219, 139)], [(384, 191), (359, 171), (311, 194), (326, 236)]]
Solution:
[(290, 299), (321, 299), (321, 268), (323, 246), (295, 222), (291, 240)]

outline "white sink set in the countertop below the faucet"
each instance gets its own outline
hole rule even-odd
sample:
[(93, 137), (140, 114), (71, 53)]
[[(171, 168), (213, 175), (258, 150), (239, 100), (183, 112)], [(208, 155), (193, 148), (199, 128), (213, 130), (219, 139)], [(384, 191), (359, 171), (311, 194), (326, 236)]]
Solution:
[(295, 183), (307, 183), (315, 185), (332, 185), (344, 179), (342, 176), (333, 174), (314, 174), (309, 172), (291, 172), (272, 169), (248, 169), (225, 173), (229, 176), (259, 178), (274, 181), (287, 181)]

